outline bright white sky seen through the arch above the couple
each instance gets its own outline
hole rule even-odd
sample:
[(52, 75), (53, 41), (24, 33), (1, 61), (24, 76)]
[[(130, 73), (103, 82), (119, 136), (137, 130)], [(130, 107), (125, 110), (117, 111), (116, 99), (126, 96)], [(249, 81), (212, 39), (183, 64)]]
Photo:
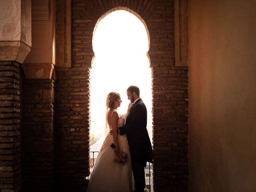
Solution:
[(125, 113), (129, 104), (126, 89), (140, 88), (140, 97), (148, 111), (148, 131), (152, 133), (152, 77), (149, 67), (148, 35), (143, 23), (134, 14), (117, 10), (98, 24), (94, 38), (95, 58), (90, 71), (90, 135), (104, 135), (104, 114), (109, 92), (118, 92)]

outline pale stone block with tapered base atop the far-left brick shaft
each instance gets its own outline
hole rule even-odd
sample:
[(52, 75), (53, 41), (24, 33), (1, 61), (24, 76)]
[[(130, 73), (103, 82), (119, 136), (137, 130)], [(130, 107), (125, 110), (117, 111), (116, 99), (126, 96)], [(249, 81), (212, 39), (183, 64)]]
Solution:
[(31, 47), (31, 0), (0, 0), (0, 61), (24, 62)]

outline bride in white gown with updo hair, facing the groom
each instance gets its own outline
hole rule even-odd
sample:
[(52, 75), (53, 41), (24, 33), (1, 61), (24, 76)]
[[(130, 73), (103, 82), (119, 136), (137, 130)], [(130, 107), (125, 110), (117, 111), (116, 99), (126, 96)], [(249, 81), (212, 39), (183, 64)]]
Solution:
[[(87, 192), (132, 192), (132, 165), (128, 141), (126, 135), (118, 134), (118, 127), (124, 126), (129, 107), (127, 114), (118, 114), (116, 109), (121, 102), (120, 94), (108, 94), (106, 124), (109, 131), (90, 174)], [(116, 147), (113, 149), (111, 144)], [(128, 161), (124, 165), (115, 162), (119, 152), (128, 154)]]

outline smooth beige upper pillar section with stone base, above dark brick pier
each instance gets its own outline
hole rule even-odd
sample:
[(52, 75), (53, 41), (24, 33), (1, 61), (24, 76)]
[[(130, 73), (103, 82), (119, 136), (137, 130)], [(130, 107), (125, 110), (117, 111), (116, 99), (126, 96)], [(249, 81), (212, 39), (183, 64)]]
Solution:
[(55, 79), (56, 0), (32, 0), (32, 47), (22, 68), (29, 79)]

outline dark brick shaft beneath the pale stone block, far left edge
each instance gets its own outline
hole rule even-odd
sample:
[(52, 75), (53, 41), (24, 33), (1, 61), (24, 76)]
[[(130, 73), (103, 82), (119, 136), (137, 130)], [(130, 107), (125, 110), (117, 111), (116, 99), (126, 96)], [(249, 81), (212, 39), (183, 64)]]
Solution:
[(0, 191), (20, 191), (20, 64), (0, 61)]

